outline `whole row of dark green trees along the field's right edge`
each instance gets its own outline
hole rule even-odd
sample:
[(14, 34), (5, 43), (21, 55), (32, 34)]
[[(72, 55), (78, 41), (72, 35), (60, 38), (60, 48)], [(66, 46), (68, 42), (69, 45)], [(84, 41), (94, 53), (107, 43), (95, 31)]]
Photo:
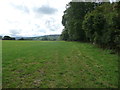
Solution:
[(70, 2), (62, 16), (61, 39), (120, 50), (120, 2)]

